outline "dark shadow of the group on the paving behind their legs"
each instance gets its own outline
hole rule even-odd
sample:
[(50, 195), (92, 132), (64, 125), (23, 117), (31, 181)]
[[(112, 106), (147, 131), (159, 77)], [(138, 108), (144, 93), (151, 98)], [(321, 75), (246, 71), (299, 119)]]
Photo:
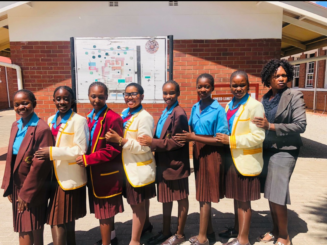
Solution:
[[(216, 241), (225, 243), (228, 239), (221, 238), (218, 236), (220, 231), (226, 230), (227, 227), (234, 225), (234, 214), (222, 213), (215, 208), (212, 208), (212, 223), (214, 231), (216, 233)], [(198, 235), (199, 231), (199, 213), (193, 212), (188, 215), (184, 233), (188, 240), (192, 236)], [(159, 231), (162, 230), (162, 215), (156, 215), (150, 217), (150, 222), (153, 224), (153, 230), (151, 233), (146, 232), (141, 237), (141, 244), (146, 244), (146, 240), (152, 236), (155, 236)], [(326, 217), (325, 217), (326, 218)], [(290, 238), (295, 237), (299, 233), (306, 233), (308, 231), (307, 223), (298, 217), (297, 213), (292, 210), (288, 210), (288, 231)], [(171, 217), (171, 231), (174, 232), (177, 227), (177, 217)], [(256, 237), (265, 234), (267, 231), (272, 229), (272, 221), (270, 211), (252, 211), (252, 220), (250, 228), (250, 243), (256, 242)], [(122, 222), (115, 222), (115, 230), (118, 238), (119, 245), (128, 245), (131, 232), (132, 232), (132, 220)], [(93, 245), (101, 239), (100, 228), (95, 227), (88, 231), (76, 231), (76, 241), (82, 242), (85, 245)], [(53, 244), (53, 243), (49, 243)]]

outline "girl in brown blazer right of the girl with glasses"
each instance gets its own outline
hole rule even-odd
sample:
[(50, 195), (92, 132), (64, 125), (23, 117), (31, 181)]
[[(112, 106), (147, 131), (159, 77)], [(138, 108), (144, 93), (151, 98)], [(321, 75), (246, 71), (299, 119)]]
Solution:
[[(174, 80), (163, 84), (163, 110), (153, 139), (138, 137), (141, 145), (150, 146), (157, 164), (156, 184), (158, 201), (163, 203), (163, 230), (147, 240), (147, 244), (178, 245), (185, 242), (184, 226), (188, 213), (188, 176), (190, 175), (189, 143), (179, 143), (172, 136), (188, 130), (184, 109), (178, 104), (180, 86)], [(178, 227), (170, 231), (173, 201), (178, 202)]]

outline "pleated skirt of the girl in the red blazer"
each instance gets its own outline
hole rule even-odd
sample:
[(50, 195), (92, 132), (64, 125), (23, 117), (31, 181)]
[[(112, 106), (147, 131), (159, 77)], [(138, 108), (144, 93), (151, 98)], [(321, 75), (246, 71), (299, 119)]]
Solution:
[(109, 198), (97, 198), (93, 193), (92, 183), (88, 185), (88, 194), (90, 213), (95, 214), (96, 219), (104, 220), (124, 212), (122, 194)]

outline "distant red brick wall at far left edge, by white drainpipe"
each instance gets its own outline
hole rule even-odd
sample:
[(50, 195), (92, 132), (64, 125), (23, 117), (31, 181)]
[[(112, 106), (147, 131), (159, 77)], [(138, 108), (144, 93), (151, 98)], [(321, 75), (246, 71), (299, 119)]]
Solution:
[[(8, 103), (8, 93), (7, 93), (7, 83), (6, 83), (6, 67), (0, 66), (0, 109), (9, 108)], [(10, 100), (10, 107), (12, 106), (12, 97), (15, 91), (17, 91), (17, 82), (15, 85), (13, 84), (12, 80), (12, 69), (7, 67), (7, 79), (8, 79), (8, 90), (9, 90), (9, 100)]]

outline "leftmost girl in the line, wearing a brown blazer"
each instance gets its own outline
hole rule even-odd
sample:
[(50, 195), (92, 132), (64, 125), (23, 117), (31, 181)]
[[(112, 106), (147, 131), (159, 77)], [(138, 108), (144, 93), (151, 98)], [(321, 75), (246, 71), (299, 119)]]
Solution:
[(14, 231), (20, 244), (43, 244), (52, 162), (38, 159), (40, 147), (53, 145), (49, 126), (34, 113), (36, 99), (29, 90), (14, 94), (14, 110), (21, 117), (10, 131), (1, 188), (12, 203)]

